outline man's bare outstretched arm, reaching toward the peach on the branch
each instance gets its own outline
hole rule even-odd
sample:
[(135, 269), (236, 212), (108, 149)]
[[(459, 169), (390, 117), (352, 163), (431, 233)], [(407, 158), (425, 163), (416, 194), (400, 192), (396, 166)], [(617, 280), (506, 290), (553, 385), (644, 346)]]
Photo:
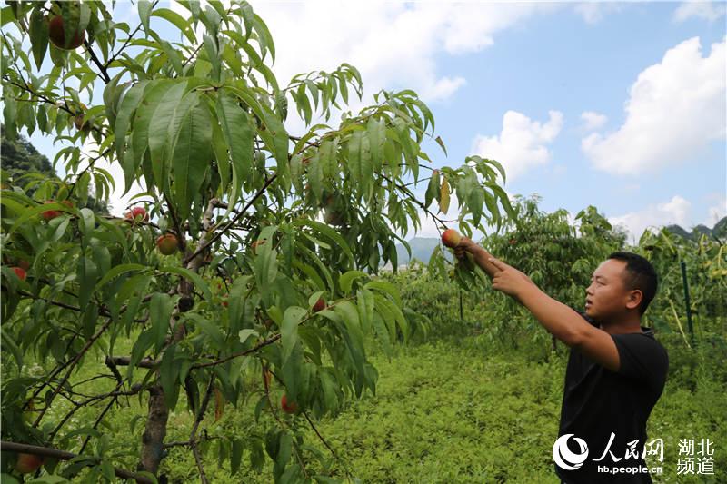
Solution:
[(463, 237), (454, 253), (461, 258), (465, 251), (473, 254), (477, 265), (493, 280), (493, 289), (522, 303), (558, 340), (581, 351), (608, 370), (618, 371), (619, 352), (609, 333), (594, 328), (572, 308), (541, 291), (523, 272), (495, 259), (481, 246)]

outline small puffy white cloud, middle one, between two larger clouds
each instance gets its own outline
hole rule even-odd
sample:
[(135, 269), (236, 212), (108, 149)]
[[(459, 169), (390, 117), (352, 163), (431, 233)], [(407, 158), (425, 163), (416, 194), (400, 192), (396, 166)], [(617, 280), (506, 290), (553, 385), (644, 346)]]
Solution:
[(563, 113), (549, 111), (548, 115), (546, 123), (539, 123), (525, 114), (508, 111), (503, 116), (503, 131), (495, 136), (478, 135), (472, 153), (502, 163), (508, 181), (548, 163), (551, 153), (547, 145), (561, 132)]

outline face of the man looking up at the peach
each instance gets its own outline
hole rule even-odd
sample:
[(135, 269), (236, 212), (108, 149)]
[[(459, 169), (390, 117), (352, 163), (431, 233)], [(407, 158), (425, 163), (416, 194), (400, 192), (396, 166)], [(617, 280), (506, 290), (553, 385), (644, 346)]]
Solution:
[(618, 318), (633, 309), (632, 290), (625, 285), (626, 262), (608, 259), (601, 262), (586, 289), (585, 314), (596, 321)]

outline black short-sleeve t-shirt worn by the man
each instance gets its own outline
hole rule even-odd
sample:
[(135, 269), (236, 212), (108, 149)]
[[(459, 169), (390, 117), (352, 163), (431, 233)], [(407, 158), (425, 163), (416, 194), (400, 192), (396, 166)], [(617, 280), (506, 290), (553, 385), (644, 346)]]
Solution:
[[(589, 318), (585, 319), (598, 327)], [(652, 482), (648, 472), (614, 474), (613, 468), (645, 467), (646, 420), (662, 395), (669, 357), (649, 328), (642, 327), (641, 332), (612, 334), (612, 339), (619, 351), (617, 372), (607, 370), (580, 351), (571, 349), (565, 370), (558, 436), (573, 435), (563, 438), (567, 449), (553, 447), (553, 459), (556, 451), (562, 452), (561, 462), (575, 468), (563, 469), (556, 459), (556, 472), (568, 484)], [(588, 449), (584, 461), (583, 443)], [(573, 458), (568, 450), (582, 456), (581, 459)], [(569, 461), (569, 457), (575, 462)], [(578, 460), (583, 461), (580, 467), (576, 465)]]

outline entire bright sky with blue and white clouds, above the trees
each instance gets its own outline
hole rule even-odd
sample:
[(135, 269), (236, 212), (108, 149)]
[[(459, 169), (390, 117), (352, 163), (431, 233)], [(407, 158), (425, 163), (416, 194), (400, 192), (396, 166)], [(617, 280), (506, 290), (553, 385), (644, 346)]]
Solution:
[[(449, 149), (427, 145), (435, 166), (497, 159), (508, 193), (573, 215), (595, 205), (636, 237), (727, 214), (724, 3), (252, 4), (282, 84), (348, 62), (364, 77), (353, 110), (381, 88), (419, 93)], [(115, 17), (134, 26), (134, 11), (118, 3)], [(113, 197), (115, 212), (127, 201)], [(419, 233), (436, 234), (431, 221)]]

